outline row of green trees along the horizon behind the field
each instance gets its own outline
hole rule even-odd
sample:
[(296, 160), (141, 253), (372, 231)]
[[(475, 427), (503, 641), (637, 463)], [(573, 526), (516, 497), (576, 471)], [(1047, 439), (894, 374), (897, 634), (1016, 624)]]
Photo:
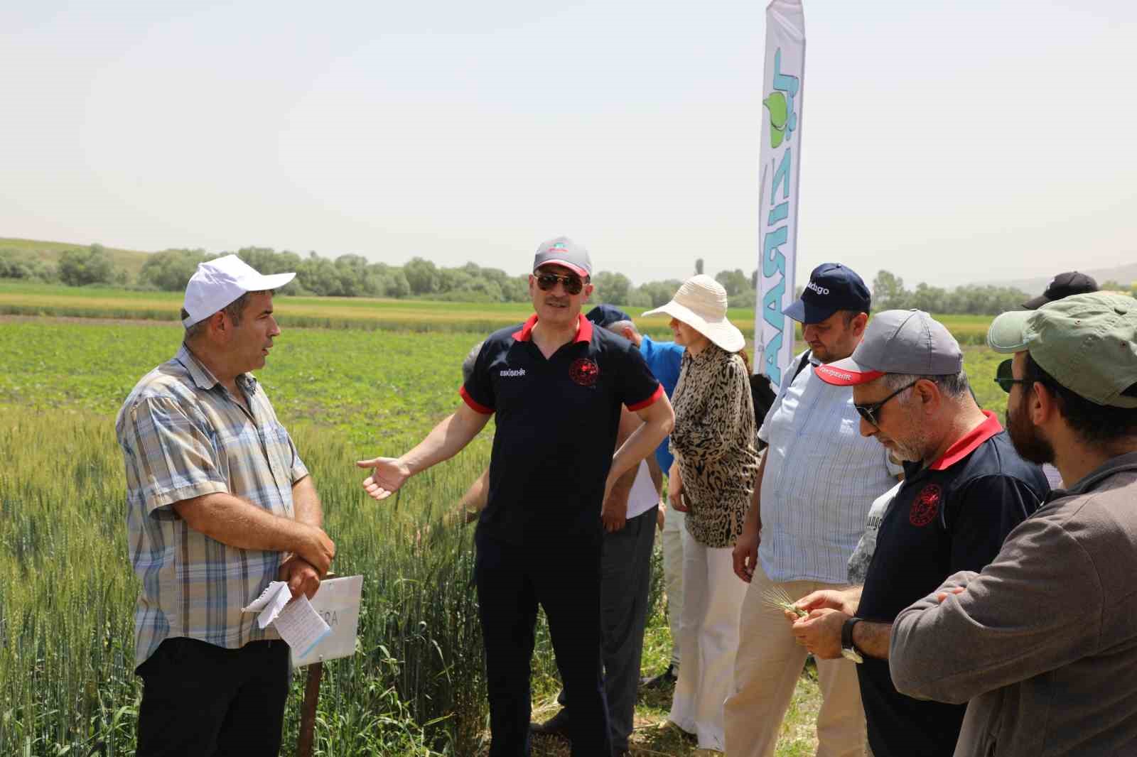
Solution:
[[(219, 255), (226, 255), (222, 252)], [(282, 294), (321, 297), (384, 297), (393, 299), (431, 299), (455, 302), (524, 302), (529, 300), (528, 276), (509, 275), (500, 268), (467, 263), (446, 268), (415, 257), (401, 266), (372, 263), (359, 255), (341, 255), (334, 259), (316, 252), (300, 256), (272, 248), (246, 247), (236, 250), (242, 260), (262, 273), (294, 271), (296, 278)], [(147, 256), (136, 280), (117, 268), (101, 244), (66, 250), (52, 265), (28, 258), (16, 250), (0, 249), (0, 278), (58, 282), (69, 286), (130, 286), (139, 290), (177, 292), (199, 263), (217, 257), (200, 249), (168, 249)], [(704, 261), (695, 261), (695, 272), (703, 273)], [(730, 306), (755, 307), (757, 271), (749, 275), (741, 268), (721, 271), (715, 280), (727, 290)], [(629, 308), (653, 308), (665, 303), (682, 283), (678, 278), (652, 281), (636, 286), (622, 273), (601, 271), (592, 277), (594, 302), (615, 302)], [(1137, 282), (1121, 285), (1104, 282), (1102, 289), (1129, 291), (1137, 297)], [(797, 296), (802, 288), (798, 286)], [(929, 313), (997, 315), (1014, 310), (1034, 294), (1010, 286), (969, 284), (954, 289), (929, 286), (921, 282), (915, 289), (904, 286), (904, 280), (881, 271), (872, 282), (874, 310), (919, 308)]]

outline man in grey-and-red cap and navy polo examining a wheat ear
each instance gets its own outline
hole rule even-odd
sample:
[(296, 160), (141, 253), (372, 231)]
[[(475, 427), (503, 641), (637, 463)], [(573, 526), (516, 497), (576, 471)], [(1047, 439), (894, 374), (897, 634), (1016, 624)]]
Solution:
[[(943, 324), (920, 310), (886, 310), (852, 357), (815, 368), (852, 385), (861, 433), (905, 460), (904, 483), (885, 511), (864, 587), (799, 599), (808, 616), (794, 634), (814, 655), (857, 666), (875, 757), (947, 757), (965, 705), (912, 699), (888, 668), (891, 624), (958, 571), (980, 571), (1049, 491), (1019, 457), (994, 414), (972, 397), (963, 353)], [(863, 662), (862, 662), (863, 660)]]

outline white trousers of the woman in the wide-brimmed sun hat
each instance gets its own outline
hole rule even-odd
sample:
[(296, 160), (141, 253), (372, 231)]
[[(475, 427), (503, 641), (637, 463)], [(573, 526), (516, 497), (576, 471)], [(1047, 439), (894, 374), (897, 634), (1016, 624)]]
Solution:
[(682, 665), (671, 721), (698, 735), (700, 749), (719, 751), (725, 748), (723, 701), (735, 675), (738, 621), (746, 597), (731, 551), (704, 547), (683, 529)]

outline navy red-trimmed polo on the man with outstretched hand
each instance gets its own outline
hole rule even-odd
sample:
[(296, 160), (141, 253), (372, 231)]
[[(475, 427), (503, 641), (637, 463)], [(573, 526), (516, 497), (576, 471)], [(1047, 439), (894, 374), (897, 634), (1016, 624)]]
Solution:
[(490, 488), (479, 531), (508, 543), (600, 534), (604, 484), (620, 407), (663, 397), (634, 344), (580, 316), (576, 339), (546, 359), (537, 316), (482, 344), (460, 394), (497, 415)]

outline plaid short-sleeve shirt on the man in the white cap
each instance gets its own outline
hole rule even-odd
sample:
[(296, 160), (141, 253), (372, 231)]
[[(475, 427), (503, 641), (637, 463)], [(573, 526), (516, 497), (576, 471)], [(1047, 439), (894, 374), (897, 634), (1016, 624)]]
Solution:
[(223, 544), (186, 526), (171, 507), (229, 492), (293, 517), (292, 484), (308, 469), (257, 380), (242, 374), (236, 383), (248, 408), (183, 344), (142, 377), (115, 421), (126, 463), (131, 563), (142, 581), (135, 666), (168, 638), (229, 649), (277, 638), (241, 608), (276, 579), (282, 554)]

